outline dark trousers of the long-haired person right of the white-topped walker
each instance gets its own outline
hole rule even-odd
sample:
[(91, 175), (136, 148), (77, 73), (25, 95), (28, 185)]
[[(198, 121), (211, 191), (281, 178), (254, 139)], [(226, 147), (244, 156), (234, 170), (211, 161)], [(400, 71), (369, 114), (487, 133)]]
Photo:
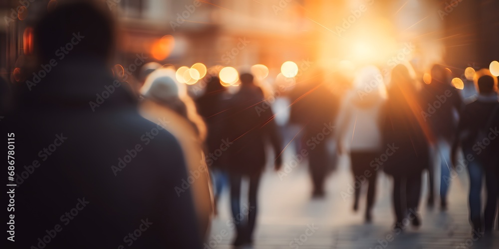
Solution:
[(397, 223), (416, 213), (421, 195), (421, 173), (393, 177), (393, 207)]

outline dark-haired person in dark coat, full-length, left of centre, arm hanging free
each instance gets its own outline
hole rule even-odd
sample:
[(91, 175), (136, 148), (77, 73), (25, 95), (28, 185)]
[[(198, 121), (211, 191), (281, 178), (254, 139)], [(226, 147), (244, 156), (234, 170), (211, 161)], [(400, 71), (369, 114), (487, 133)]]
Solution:
[[(271, 109), (257, 112), (255, 106), (264, 101), (262, 90), (254, 85), (253, 76), (245, 73), (241, 77), (241, 89), (231, 99), (227, 128), (230, 141), (228, 148), (229, 174), (231, 184), (231, 208), (236, 224), (235, 246), (251, 244), (258, 211), (257, 193), (261, 173), (265, 166), (265, 141), (272, 145), (275, 169), (281, 166), (281, 138), (273, 120)], [(241, 207), (241, 182), (243, 177), (250, 181), (248, 210)], [(245, 223), (241, 217), (248, 215)]]

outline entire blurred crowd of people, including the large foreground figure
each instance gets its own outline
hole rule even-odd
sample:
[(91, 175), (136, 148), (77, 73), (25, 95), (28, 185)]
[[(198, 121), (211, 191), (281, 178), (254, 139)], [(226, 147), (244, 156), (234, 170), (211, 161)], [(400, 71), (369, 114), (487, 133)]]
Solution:
[[(23, 216), (18, 245), (38, 245), (33, 238), (85, 198), (89, 203), (75, 224), (65, 224), (71, 229), (52, 239), (53, 248), (119, 247), (147, 219), (147, 231), (135, 234), (147, 239), (130, 240), (137, 248), (201, 248), (226, 188), (233, 218), (241, 221), (233, 244), (250, 245), (261, 175), (269, 163), (285, 172), (283, 153), (293, 148), (303, 158), (298, 164), (308, 162), (310, 194), (317, 199), (325, 197), (338, 155), (350, 158), (352, 182), (358, 182), (353, 210), (367, 187), (366, 222), (373, 220), (379, 173), (393, 179), (394, 228), (404, 230), (409, 216), (412, 226), (421, 225), (423, 177), (429, 177), (426, 204), (445, 212), (456, 171), (469, 175), (473, 236), (499, 228), (498, 78), (488, 69), (476, 72), (477, 94), (470, 98), (440, 64), (430, 82), (410, 64), (388, 76), (369, 65), (349, 77), (312, 68), (273, 89), (245, 71), (236, 90), (227, 88), (215, 72), (194, 95), (171, 65), (147, 63), (128, 81), (111, 70), (115, 36), (103, 11), (81, 2), (57, 6), (34, 31), (38, 64), (49, 63), (74, 32), (84, 40), (29, 90), (2, 84), (2, 92), (14, 96), (2, 99), (10, 105), (7, 127), (16, 132), (16, 164), (28, 170), (39, 161), (31, 176), (15, 180), (22, 198), (16, 212)], [(288, 117), (279, 122), (282, 112)], [(45, 163), (38, 151), (56, 134), (67, 140)]]

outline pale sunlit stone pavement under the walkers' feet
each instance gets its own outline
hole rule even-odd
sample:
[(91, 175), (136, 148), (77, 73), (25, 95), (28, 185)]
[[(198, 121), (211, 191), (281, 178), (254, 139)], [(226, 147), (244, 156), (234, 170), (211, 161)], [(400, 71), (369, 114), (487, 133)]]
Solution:
[[(301, 164), (282, 179), (270, 168), (262, 176), (252, 248), (499, 249), (498, 232), (489, 238), (472, 240), (468, 222), (466, 173), (453, 179), (447, 212), (441, 212), (438, 206), (433, 209), (426, 207), (427, 190), (424, 187), (420, 204), (422, 226), (418, 230), (409, 226), (405, 232), (397, 233), (392, 231), (391, 226), (394, 223), (390, 198), (392, 183), (386, 175), (378, 176), (373, 222), (365, 224), (363, 210), (366, 191), (361, 196), (358, 213), (351, 209), (353, 196), (342, 198), (341, 195), (342, 191), (348, 193), (349, 184), (353, 184), (345, 157), (340, 158), (338, 169), (328, 177), (327, 194), (322, 200), (310, 198), (311, 183), (306, 162)], [(426, 180), (423, 185), (427, 185)], [(205, 249), (232, 248), (235, 228), (231, 220), (226, 191), (221, 198), (219, 216), (213, 221)]]

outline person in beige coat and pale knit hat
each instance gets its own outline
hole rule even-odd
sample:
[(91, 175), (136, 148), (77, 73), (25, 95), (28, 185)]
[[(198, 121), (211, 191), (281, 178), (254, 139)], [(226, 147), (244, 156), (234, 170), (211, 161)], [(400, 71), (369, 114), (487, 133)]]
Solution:
[[(175, 191), (178, 196), (191, 191), (196, 205), (202, 239), (206, 239), (213, 215), (213, 194), (203, 152), (206, 126), (198, 115), (185, 85), (175, 79), (175, 71), (158, 69), (141, 88), (144, 100), (139, 113), (147, 120), (171, 132), (179, 141), (187, 165), (187, 179)], [(168, 164), (166, 164), (168, 165)]]

